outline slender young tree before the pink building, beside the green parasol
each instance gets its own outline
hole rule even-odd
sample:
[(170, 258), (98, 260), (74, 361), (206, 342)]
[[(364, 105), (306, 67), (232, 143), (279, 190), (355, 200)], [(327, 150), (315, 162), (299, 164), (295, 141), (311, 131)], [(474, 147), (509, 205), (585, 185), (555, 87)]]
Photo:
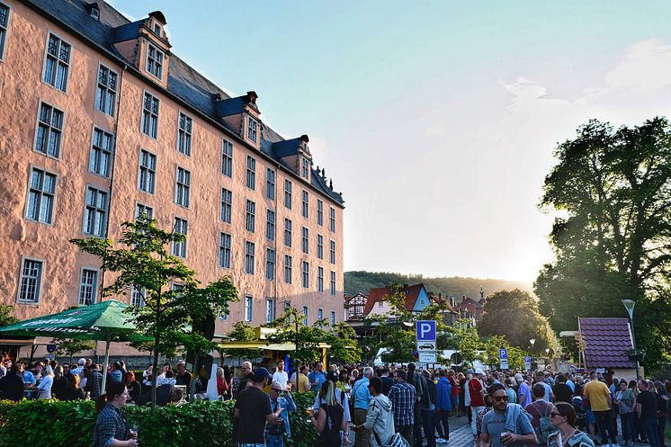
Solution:
[[(228, 313), (228, 303), (237, 300), (237, 290), (228, 276), (201, 288), (196, 273), (171, 255), (166, 246), (182, 244), (186, 237), (157, 228), (156, 220), (141, 215), (135, 222), (124, 222), (119, 243), (112, 248), (109, 238), (72, 239), (85, 253), (98, 256), (103, 270), (117, 273), (103, 288), (103, 296), (125, 294), (130, 288), (143, 295), (143, 307), (130, 307), (139, 333), (149, 335), (154, 344), (154, 371), (158, 354), (182, 345), (196, 355), (210, 353), (214, 344), (198, 329), (213, 325), (214, 318)], [(175, 287), (177, 284), (179, 286)], [(156, 407), (156, 379), (152, 386), (152, 407)]]

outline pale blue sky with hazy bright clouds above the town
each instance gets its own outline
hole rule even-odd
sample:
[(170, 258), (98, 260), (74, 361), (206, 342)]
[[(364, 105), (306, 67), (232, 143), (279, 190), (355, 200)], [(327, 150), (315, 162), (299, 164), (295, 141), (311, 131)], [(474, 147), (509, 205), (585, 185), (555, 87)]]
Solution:
[(533, 281), (553, 150), (671, 110), (671, 2), (114, 0), (343, 192), (345, 270)]

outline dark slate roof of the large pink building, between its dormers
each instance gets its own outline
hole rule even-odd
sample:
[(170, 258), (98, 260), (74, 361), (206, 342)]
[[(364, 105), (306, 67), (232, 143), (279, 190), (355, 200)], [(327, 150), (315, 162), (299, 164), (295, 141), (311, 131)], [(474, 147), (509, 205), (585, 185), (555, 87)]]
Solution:
[[(89, 42), (100, 49), (107, 57), (118, 61), (121, 65), (129, 65), (129, 70), (142, 76), (148, 84), (153, 84), (157, 90), (163, 90), (160, 85), (153, 83), (150, 79), (142, 75), (138, 70), (132, 67), (130, 61), (121, 56), (113, 42), (122, 37), (127, 37), (130, 32), (138, 29), (139, 22), (130, 22), (119, 11), (110, 4), (103, 1), (97, 2), (100, 8), (100, 22), (94, 20), (87, 12), (85, 0), (23, 0), (33, 9), (49, 16), (52, 22), (60, 24), (67, 31), (75, 34), (80, 39)], [(154, 12), (157, 14), (160, 12)], [(122, 27), (122, 28), (119, 28)], [(117, 29), (115, 31), (115, 29)], [(135, 34), (137, 36), (137, 33)], [(227, 129), (237, 136), (237, 130), (228, 128), (224, 121), (221, 121), (216, 110), (213, 95), (219, 94), (221, 99), (229, 99), (231, 95), (226, 93), (219, 86), (212, 83), (205, 76), (198, 73), (193, 67), (190, 67), (182, 59), (171, 53), (168, 64), (167, 92), (175, 100), (181, 101), (190, 106), (196, 112), (200, 112), (211, 121), (219, 124), (221, 128)], [(276, 165), (282, 165), (286, 170), (294, 173), (293, 169), (282, 162), (282, 159), (273, 151), (273, 143), (284, 141), (284, 139), (274, 130), (261, 123), (261, 152), (270, 157)], [(239, 136), (238, 136), (239, 138)], [(318, 192), (323, 193), (329, 199), (335, 201), (340, 206), (344, 206), (343, 196), (340, 192), (335, 192), (327, 184), (326, 179), (321, 177), (316, 169), (312, 170), (311, 185)]]

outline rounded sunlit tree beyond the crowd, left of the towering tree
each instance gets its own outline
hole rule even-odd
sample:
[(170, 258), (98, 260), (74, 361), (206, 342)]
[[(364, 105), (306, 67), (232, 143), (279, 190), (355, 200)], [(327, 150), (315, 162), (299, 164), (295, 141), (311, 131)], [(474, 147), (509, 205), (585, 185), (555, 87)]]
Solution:
[[(507, 343), (541, 353), (550, 347), (550, 328), (538, 310), (538, 302), (525, 291), (497, 291), (485, 301), (478, 323), (481, 336), (503, 335)], [(529, 340), (535, 339), (535, 343)]]

